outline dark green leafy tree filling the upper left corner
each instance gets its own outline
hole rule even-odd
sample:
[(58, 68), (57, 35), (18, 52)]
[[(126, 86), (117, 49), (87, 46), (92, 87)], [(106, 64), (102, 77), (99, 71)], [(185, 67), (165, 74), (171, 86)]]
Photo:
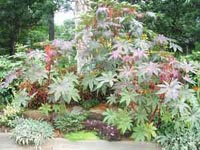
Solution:
[[(35, 26), (42, 16), (44, 0), (1, 0), (0, 46), (15, 53), (15, 43), (20, 33)], [(5, 51), (4, 51), (5, 53)]]

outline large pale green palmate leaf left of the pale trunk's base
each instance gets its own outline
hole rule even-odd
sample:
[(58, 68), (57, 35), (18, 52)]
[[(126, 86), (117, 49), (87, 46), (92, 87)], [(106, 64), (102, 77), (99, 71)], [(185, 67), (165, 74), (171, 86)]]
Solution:
[(69, 73), (63, 80), (58, 78), (49, 86), (49, 94), (54, 95), (55, 102), (61, 99), (67, 103), (70, 103), (71, 100), (78, 101), (80, 96), (78, 90), (75, 88), (77, 83), (77, 76)]

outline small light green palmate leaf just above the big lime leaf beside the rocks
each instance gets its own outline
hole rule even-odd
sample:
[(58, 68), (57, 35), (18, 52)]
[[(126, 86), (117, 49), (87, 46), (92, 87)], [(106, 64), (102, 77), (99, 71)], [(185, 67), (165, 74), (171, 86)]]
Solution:
[(136, 93), (135, 91), (128, 91), (128, 90), (123, 90), (121, 95), (121, 99), (120, 99), (120, 103), (125, 103), (126, 106), (129, 106), (129, 104), (131, 102), (136, 102), (137, 99), (136, 97), (139, 96), (138, 93)]

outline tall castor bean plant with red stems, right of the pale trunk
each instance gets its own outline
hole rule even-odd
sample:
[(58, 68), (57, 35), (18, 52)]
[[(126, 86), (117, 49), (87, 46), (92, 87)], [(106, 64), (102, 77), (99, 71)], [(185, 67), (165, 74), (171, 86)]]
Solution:
[(194, 114), (199, 112), (199, 103), (192, 89), (196, 65), (166, 52), (182, 48), (175, 40), (143, 27), (136, 6), (100, 3), (96, 14), (91, 11), (83, 16), (79, 40), (87, 59), (82, 68), (84, 87), (122, 108), (108, 110), (104, 121), (123, 134), (131, 132), (138, 141), (156, 137), (157, 128), (167, 119), (164, 114), (189, 124), (188, 128), (198, 124)]

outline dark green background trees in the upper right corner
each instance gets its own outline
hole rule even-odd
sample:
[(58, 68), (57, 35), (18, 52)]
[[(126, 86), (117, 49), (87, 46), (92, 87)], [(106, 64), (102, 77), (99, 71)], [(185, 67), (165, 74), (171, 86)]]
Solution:
[(154, 21), (145, 20), (148, 27), (176, 39), (185, 53), (191, 53), (195, 42), (200, 41), (199, 7), (199, 0), (149, 0), (142, 3), (143, 10), (158, 14)]

